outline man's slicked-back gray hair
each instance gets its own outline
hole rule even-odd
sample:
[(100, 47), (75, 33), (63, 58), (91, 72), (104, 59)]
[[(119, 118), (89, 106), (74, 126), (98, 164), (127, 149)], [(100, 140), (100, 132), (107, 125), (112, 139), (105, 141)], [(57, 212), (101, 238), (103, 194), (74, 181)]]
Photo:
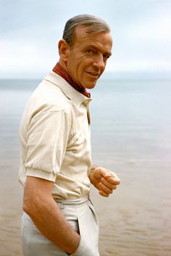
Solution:
[(67, 21), (62, 38), (72, 46), (75, 40), (75, 28), (78, 26), (88, 27), (86, 33), (108, 33), (110, 32), (107, 22), (93, 15), (77, 15)]

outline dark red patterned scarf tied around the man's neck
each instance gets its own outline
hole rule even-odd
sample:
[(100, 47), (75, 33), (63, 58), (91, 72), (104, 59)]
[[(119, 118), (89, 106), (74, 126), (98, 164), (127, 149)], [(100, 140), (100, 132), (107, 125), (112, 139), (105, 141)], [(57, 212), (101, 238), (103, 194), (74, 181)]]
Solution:
[(64, 80), (67, 81), (67, 83), (70, 83), (70, 86), (72, 86), (73, 88), (75, 88), (75, 90), (79, 91), (81, 94), (85, 95), (86, 97), (90, 98), (91, 94), (86, 90), (86, 88), (83, 88), (82, 86), (79, 86), (78, 84), (76, 84), (72, 78), (70, 77), (70, 75), (67, 73), (66, 70), (64, 70), (64, 68), (59, 65), (59, 63), (57, 62), (57, 65), (54, 66), (53, 70), (54, 73), (57, 73), (58, 75), (60, 75), (62, 78), (64, 78)]

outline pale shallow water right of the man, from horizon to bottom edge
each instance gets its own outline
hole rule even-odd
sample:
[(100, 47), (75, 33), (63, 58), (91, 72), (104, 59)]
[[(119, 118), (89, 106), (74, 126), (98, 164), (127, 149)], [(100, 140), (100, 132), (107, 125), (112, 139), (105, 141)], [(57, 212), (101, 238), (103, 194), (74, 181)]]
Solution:
[(104, 255), (171, 255), (170, 85), (111, 81), (93, 96), (94, 160), (122, 180), (99, 214)]

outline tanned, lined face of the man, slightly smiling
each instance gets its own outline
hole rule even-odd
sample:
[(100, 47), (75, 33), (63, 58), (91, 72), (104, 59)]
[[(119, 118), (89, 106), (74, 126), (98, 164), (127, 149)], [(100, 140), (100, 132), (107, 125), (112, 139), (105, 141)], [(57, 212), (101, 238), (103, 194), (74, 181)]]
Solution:
[(104, 72), (111, 55), (111, 33), (86, 33), (86, 27), (75, 30), (75, 42), (67, 56), (67, 72), (80, 86), (93, 88)]

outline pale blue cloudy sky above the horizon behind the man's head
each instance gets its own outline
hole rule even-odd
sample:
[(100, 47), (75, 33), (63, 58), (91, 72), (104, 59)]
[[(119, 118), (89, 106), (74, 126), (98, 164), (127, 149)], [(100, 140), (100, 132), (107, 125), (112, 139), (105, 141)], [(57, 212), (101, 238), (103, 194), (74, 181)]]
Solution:
[(0, 0), (0, 78), (42, 78), (65, 22), (91, 14), (112, 30), (107, 73), (171, 73), (171, 0)]

